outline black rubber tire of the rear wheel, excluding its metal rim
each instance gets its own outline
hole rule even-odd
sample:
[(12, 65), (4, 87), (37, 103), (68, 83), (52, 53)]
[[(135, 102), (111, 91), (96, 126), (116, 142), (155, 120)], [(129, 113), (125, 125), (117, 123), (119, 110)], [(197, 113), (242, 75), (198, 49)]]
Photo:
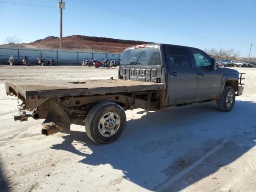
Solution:
[[(108, 112), (118, 115), (120, 126), (112, 136), (102, 136), (99, 131), (100, 119)], [(124, 109), (114, 102), (101, 102), (96, 104), (87, 114), (85, 119), (85, 131), (88, 137), (97, 144), (108, 144), (116, 141), (124, 132), (126, 126), (126, 114)]]

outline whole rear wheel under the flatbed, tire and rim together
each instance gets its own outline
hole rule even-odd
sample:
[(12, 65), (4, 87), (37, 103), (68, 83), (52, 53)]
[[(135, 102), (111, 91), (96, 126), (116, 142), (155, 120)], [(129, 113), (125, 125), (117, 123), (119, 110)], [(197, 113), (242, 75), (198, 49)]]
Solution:
[(86, 134), (98, 144), (116, 141), (124, 132), (125, 125), (124, 109), (114, 102), (96, 104), (85, 119)]

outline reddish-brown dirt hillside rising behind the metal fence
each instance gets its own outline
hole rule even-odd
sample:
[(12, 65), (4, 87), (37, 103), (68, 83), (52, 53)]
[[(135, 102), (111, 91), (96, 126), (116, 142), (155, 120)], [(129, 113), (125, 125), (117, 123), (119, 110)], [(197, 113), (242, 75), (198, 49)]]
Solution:
[[(114, 52), (122, 53), (125, 48), (138, 44), (148, 44), (150, 42), (121, 40), (105, 37), (89, 37), (83, 35), (72, 35), (63, 38), (62, 48), (64, 50), (82, 50), (95, 52)], [(40, 49), (58, 49), (60, 38), (48, 36), (44, 39), (36, 40), (31, 43), (22, 44), (4, 44), (0, 46), (15, 46), (20, 48), (40, 48)]]

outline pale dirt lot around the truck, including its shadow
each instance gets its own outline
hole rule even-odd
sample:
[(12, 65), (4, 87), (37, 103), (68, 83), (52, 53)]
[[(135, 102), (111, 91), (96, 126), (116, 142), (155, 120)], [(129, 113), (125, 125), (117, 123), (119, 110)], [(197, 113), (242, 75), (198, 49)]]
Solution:
[(100, 146), (84, 126), (44, 136), (42, 120), (14, 122), (3, 81), (117, 78), (118, 68), (0, 66), (0, 191), (255, 192), (256, 69), (235, 69), (246, 85), (231, 112), (128, 110), (124, 134)]

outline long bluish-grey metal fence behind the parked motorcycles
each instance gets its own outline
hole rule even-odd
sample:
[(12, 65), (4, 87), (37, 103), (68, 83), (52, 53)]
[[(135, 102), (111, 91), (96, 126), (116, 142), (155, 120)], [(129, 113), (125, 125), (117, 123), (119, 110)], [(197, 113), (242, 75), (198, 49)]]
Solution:
[(40, 57), (46, 58), (46, 62), (54, 59), (59, 65), (80, 65), (83, 60), (98, 59), (109, 61), (114, 60), (120, 62), (122, 54), (106, 53), (106, 52), (83, 52), (70, 50), (41, 50), (28, 48), (0, 48), (0, 63), (6, 63), (10, 55), (13, 54), (15, 63), (22, 61), (23, 56), (27, 56), (30, 64), (36, 64), (36, 59)]

